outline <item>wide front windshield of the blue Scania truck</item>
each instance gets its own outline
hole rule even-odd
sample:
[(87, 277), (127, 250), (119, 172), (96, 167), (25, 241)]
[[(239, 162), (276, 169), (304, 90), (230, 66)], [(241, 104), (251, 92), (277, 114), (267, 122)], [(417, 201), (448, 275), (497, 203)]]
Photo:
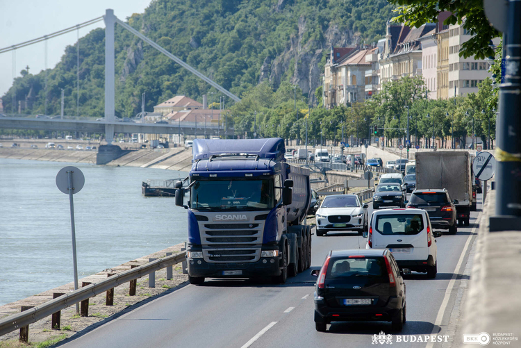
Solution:
[(273, 180), (201, 180), (190, 190), (190, 208), (266, 210), (274, 207)]

